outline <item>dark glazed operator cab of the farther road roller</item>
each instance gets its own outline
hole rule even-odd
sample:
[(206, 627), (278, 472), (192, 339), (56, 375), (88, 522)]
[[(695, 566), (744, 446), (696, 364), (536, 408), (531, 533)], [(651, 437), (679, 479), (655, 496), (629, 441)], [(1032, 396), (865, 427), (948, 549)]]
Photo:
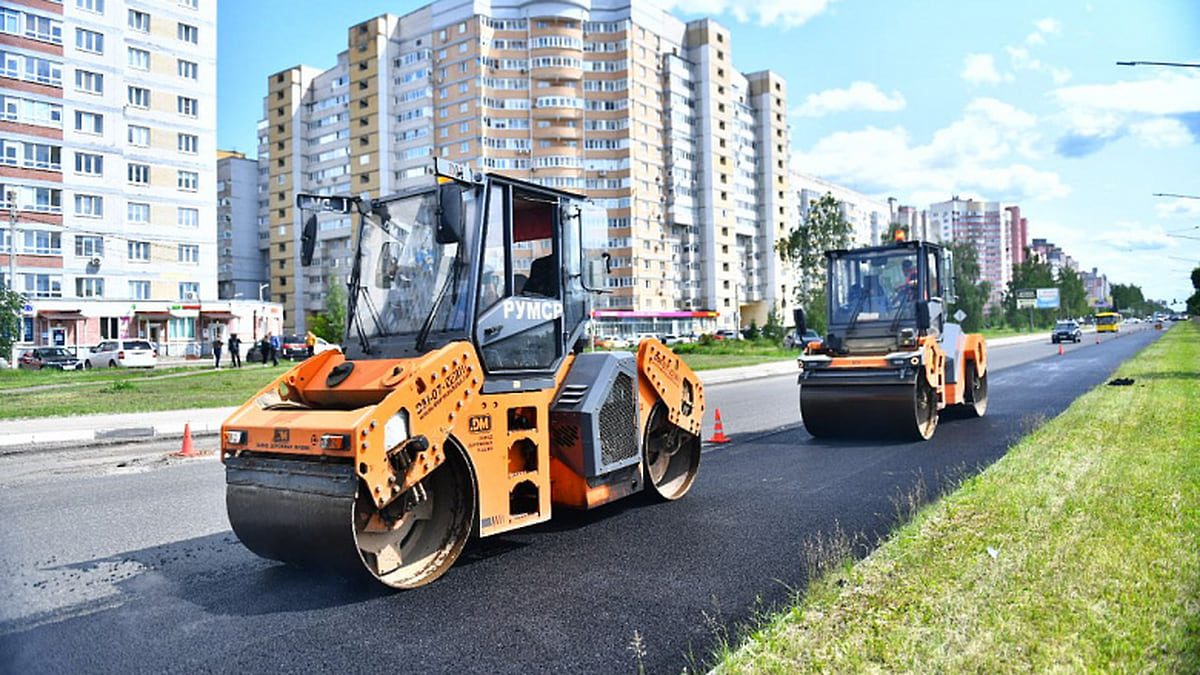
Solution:
[(919, 335), (941, 333), (941, 246), (906, 241), (826, 256), (829, 351), (884, 353), (914, 346)]

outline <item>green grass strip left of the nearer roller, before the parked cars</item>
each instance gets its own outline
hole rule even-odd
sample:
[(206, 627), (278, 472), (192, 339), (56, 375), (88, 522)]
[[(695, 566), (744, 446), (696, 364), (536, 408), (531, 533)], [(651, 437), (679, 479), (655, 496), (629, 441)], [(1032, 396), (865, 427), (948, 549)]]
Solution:
[[(104, 374), (108, 377), (76, 381), (72, 387), (12, 393), (0, 407), (0, 419), (236, 406), (246, 402), (292, 365), (295, 364), (203, 370), (182, 377), (158, 377), (172, 369), (53, 372), (47, 375), (62, 376), (50, 378), (59, 382), (70, 382), (72, 375)], [(50, 382), (38, 381), (23, 386), (47, 383)]]

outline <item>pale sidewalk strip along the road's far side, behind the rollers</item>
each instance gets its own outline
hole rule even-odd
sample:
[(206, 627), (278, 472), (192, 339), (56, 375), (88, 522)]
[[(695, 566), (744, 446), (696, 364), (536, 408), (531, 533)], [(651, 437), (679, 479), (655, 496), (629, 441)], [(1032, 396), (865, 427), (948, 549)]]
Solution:
[[(1045, 334), (1038, 333), (989, 340), (988, 345), (1003, 346), (1033, 341), (1049, 342), (1049, 338)], [(210, 364), (211, 362), (190, 359), (186, 363), (200, 365)], [(709, 387), (727, 382), (794, 375), (796, 372), (796, 360), (787, 359), (739, 368), (702, 370), (698, 375), (701, 382), (706, 387)], [(235, 406), (229, 406), (220, 408), (0, 420), (0, 455), (68, 446), (88, 447), (150, 438), (182, 438), (185, 425), (188, 426), (193, 437), (216, 436), (221, 432), (221, 424), (235, 410)]]

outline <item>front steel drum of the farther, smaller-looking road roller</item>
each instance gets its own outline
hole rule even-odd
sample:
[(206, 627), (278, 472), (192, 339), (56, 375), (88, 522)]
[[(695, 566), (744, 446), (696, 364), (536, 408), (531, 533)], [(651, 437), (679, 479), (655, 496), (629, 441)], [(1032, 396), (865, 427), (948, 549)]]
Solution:
[(800, 417), (818, 437), (928, 441), (937, 428), (937, 392), (916, 382), (800, 384)]

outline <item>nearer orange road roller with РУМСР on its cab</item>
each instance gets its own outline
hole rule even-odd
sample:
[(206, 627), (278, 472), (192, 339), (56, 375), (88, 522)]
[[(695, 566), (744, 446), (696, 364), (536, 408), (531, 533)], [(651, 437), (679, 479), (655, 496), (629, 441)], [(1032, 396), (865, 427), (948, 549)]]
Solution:
[(689, 491), (700, 380), (656, 340), (583, 348), (610, 274), (604, 208), (445, 162), (398, 195), (296, 208), (302, 265), (320, 211), (358, 213), (347, 338), (222, 425), (229, 522), (251, 551), (412, 589), (473, 537), (554, 507)]

